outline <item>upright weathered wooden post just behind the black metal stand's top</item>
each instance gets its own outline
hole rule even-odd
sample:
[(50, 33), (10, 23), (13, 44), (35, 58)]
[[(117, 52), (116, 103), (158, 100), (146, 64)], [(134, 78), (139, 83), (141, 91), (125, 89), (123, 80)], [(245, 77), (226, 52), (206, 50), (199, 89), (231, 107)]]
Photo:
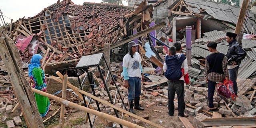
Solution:
[[(106, 63), (108, 64), (108, 67), (110, 68), (110, 45), (108, 43), (105, 43), (105, 44), (103, 44), (103, 46), (104, 46), (104, 57), (105, 57)], [(107, 68), (107, 66), (105, 66), (105, 68)], [(110, 70), (111, 70), (111, 68), (110, 68)], [(109, 87), (110, 86), (110, 74), (109, 74), (108, 78), (106, 78), (106, 79), (108, 79), (106, 84)]]

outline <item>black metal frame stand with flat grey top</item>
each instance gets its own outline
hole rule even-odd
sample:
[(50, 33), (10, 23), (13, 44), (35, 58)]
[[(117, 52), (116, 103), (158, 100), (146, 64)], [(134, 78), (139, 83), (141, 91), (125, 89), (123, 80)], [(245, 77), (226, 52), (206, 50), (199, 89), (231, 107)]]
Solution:
[[(100, 64), (104, 64), (106, 69), (101, 69), (100, 68)], [(88, 70), (89, 68), (92, 68), (92, 67), (95, 67), (98, 70), (95, 70), (95, 71)], [(82, 82), (81, 82), (81, 80), (79, 78), (78, 70), (84, 70), (87, 73), (86, 76), (84, 77), (84, 79), (82, 80)], [(126, 108), (126, 106), (124, 104), (124, 100), (121, 97), (121, 94), (120, 94), (120, 92), (118, 90), (118, 86), (116, 85), (114, 77), (113, 77), (113, 75), (111, 73), (111, 70), (110, 70), (108, 64), (106, 63), (106, 59), (105, 59), (103, 53), (93, 54), (93, 55), (88, 55), (88, 56), (82, 56), (82, 58), (80, 59), (80, 61), (76, 65), (76, 73), (77, 73), (78, 82), (80, 84), (80, 89), (82, 90), (83, 86), (90, 86), (91, 89), (92, 89), (92, 95), (96, 96), (95, 95), (95, 91), (94, 91), (94, 85), (96, 85), (96, 86), (100, 85), (100, 83), (95, 84), (94, 78), (93, 78), (93, 75), (92, 75), (93, 72), (96, 72), (96, 71), (100, 72), (100, 78), (102, 79), (102, 82), (104, 84), (104, 89), (108, 93), (108, 97), (110, 99), (111, 104), (116, 104), (116, 98), (117, 98), (117, 95), (119, 95), (121, 100), (122, 100), (123, 109), (127, 110), (127, 108)], [(103, 75), (102, 71), (105, 71), (106, 78), (104, 78), (104, 75)], [(88, 85), (84, 85), (84, 82), (86, 81), (87, 78), (88, 78), (89, 84)], [(109, 89), (107, 88), (107, 84), (106, 83), (108, 81), (108, 78), (111, 78), (111, 80), (113, 81), (114, 85), (116, 86), (116, 94), (115, 94), (115, 97), (114, 97), (114, 102), (113, 102), (112, 97), (110, 95)], [(90, 98), (88, 104), (86, 104), (84, 94), (82, 94), (82, 96), (83, 96), (83, 100), (84, 100), (84, 106), (89, 108), (89, 105), (90, 105), (90, 102), (92, 101), (92, 98)], [(100, 110), (100, 106), (99, 106), (99, 103), (98, 103), (97, 100), (96, 100), (96, 104), (97, 104), (97, 109), (96, 110), (100, 112), (101, 110)], [(114, 112), (116, 114), (116, 117), (119, 118), (118, 111), (114, 109)], [(87, 113), (87, 116), (88, 116), (88, 119), (89, 119), (89, 122), (90, 122), (90, 127), (92, 128), (96, 116), (94, 116), (93, 122), (90, 119), (89, 113)], [(123, 116), (124, 116), (124, 113), (122, 113), (122, 117), (121, 117), (122, 119), (123, 119)], [(120, 124), (120, 128), (123, 128), (121, 124)]]

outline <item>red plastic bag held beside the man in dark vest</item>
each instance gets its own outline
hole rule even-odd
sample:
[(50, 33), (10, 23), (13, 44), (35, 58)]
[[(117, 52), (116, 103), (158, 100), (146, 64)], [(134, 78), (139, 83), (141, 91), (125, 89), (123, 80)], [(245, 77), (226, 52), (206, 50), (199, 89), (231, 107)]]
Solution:
[(223, 83), (219, 82), (219, 84), (217, 84), (217, 92), (226, 98), (232, 99), (233, 101), (236, 100), (236, 94), (234, 92), (233, 82), (231, 80), (227, 81), (224, 79)]

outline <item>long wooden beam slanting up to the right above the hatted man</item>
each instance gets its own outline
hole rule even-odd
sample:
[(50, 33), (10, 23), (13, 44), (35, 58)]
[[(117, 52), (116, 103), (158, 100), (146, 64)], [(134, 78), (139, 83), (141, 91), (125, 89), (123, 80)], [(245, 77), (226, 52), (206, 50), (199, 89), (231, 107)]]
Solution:
[(134, 39), (136, 39), (136, 38), (138, 38), (138, 37), (140, 37), (140, 36), (142, 36), (142, 35), (148, 34), (148, 33), (152, 32), (153, 30), (162, 28), (162, 27), (165, 26), (165, 25), (166, 25), (165, 22), (161, 22), (161, 23), (156, 24), (156, 25), (154, 25), (154, 26), (152, 26), (152, 27), (149, 27), (149, 28), (147, 28), (147, 29), (145, 29), (145, 30), (142, 30), (142, 31), (140, 31), (140, 32), (138, 32), (138, 33), (136, 33), (136, 34), (134, 34), (134, 35), (132, 35), (132, 36), (129, 36), (129, 37), (127, 37), (127, 38), (124, 38), (124, 39), (121, 40), (120, 42), (116, 42), (115, 44), (113, 44), (112, 46), (110, 46), (110, 49), (118, 48), (119, 46), (122, 46), (122, 45), (124, 45), (124, 44), (130, 42), (131, 40), (134, 40)]

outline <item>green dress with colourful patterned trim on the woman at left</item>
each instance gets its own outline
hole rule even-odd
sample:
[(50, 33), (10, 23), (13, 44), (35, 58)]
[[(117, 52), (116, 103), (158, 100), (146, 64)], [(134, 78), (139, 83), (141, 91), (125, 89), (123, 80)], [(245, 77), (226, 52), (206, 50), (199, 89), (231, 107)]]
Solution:
[[(46, 91), (46, 79), (44, 76), (44, 71), (41, 68), (34, 68), (32, 70), (31, 83), (32, 88), (35, 88), (43, 92)], [(34, 93), (34, 95), (36, 98), (36, 104), (38, 106), (40, 116), (47, 116), (48, 111), (50, 109), (49, 98), (36, 93)]]

